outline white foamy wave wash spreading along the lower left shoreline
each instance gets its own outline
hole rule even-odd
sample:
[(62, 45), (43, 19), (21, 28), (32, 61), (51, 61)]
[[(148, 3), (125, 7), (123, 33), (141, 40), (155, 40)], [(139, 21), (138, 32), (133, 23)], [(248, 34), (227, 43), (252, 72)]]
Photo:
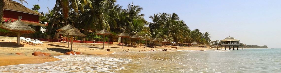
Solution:
[(94, 55), (62, 55), (55, 57), (62, 59), (62, 61), (2, 66), (0, 67), (0, 72), (114, 72), (114, 70), (124, 69), (122, 64), (132, 63), (131, 59)]

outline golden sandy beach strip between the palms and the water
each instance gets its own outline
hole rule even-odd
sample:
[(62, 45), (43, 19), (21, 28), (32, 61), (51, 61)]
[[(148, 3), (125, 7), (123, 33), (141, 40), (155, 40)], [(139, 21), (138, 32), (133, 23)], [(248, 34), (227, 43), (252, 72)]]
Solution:
[[(64, 55), (65, 52), (69, 52), (69, 48), (67, 47), (67, 43), (62, 42), (44, 42), (43, 45), (30, 45), (27, 43), (21, 42), (21, 47), (17, 47), (17, 41), (0, 41), (0, 66), (8, 66), (8, 65), (18, 65), (18, 64), (40, 64), (44, 62), (52, 62), (59, 61), (60, 59), (54, 58), (54, 56)], [(164, 50), (165, 46), (157, 46), (157, 48), (150, 48), (145, 46), (136, 45), (132, 46), (124, 46), (110, 44), (109, 49), (110, 52), (106, 51), (107, 44), (105, 45), (105, 49), (103, 49), (103, 44), (95, 44), (96, 46), (91, 46), (93, 43), (73, 43), (72, 50), (76, 52), (83, 53), (82, 55), (93, 55), (93, 54), (112, 54), (114, 52), (126, 52), (126, 51), (149, 51), (154, 49), (156, 51)], [(201, 48), (201, 47), (178, 47), (180, 49), (171, 48), (171, 46), (167, 46), (167, 49), (176, 50), (216, 50), (210, 48)], [(33, 56), (32, 53), (35, 51), (47, 52), (50, 53), (51, 56), (45, 57), (37, 57)], [(23, 53), (24, 55), (17, 55), (15, 53)]]

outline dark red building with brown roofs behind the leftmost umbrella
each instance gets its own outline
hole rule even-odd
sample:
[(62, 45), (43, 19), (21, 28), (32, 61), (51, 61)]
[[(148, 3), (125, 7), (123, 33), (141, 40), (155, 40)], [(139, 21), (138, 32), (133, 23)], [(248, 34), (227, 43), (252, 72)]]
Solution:
[(16, 21), (18, 19), (18, 16), (22, 16), (21, 21), (29, 25), (35, 31), (40, 31), (40, 29), (41, 31), (43, 31), (41, 27), (47, 26), (47, 24), (39, 23), (39, 17), (42, 16), (42, 14), (28, 9), (27, 7), (15, 5), (6, 1), (3, 21), (5, 21), (6, 19), (12, 19)]

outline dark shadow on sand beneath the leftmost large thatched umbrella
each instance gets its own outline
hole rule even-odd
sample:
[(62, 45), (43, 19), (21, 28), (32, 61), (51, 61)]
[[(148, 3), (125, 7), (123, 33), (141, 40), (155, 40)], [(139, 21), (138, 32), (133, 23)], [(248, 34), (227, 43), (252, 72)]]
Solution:
[(24, 47), (24, 45), (18, 46), (16, 42), (0, 42), (0, 47)]

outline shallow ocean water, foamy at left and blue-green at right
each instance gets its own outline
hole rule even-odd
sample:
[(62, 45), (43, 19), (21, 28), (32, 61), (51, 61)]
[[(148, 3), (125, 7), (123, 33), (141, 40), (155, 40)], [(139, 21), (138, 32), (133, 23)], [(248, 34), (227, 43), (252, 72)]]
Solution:
[(56, 57), (62, 61), (2, 66), (0, 72), (281, 73), (281, 49), (116, 52)]

